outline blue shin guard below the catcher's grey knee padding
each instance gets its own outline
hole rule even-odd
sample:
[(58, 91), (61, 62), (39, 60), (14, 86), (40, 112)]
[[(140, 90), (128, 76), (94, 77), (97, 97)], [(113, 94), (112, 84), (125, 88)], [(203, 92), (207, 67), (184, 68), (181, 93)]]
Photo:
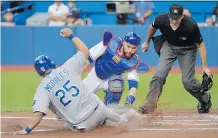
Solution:
[(122, 97), (122, 92), (110, 92), (105, 91), (104, 104), (119, 104), (120, 99)]

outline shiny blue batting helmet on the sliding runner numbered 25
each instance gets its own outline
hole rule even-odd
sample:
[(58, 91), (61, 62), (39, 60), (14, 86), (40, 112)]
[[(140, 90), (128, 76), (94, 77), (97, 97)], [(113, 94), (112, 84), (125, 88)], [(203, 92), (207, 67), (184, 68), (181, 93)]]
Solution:
[(43, 76), (49, 69), (55, 69), (55, 63), (47, 56), (40, 55), (35, 59), (34, 67), (40, 76)]

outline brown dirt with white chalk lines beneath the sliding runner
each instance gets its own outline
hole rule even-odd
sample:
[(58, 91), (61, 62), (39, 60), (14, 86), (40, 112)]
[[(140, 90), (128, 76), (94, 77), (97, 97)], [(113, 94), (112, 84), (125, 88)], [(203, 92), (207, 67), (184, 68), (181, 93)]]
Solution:
[[(30, 113), (2, 113), (3, 138), (27, 137), (10, 135), (26, 126)], [(91, 132), (72, 132), (53, 114), (46, 116), (28, 138), (217, 138), (218, 110), (210, 114), (198, 114), (193, 110), (174, 110), (142, 115), (128, 127), (98, 128)]]

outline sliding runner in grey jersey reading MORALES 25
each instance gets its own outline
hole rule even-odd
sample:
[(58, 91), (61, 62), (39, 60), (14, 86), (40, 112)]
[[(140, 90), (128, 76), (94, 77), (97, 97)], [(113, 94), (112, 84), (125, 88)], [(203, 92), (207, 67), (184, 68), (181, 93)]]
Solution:
[(36, 90), (28, 125), (14, 134), (29, 134), (48, 108), (73, 131), (92, 130), (106, 119), (117, 124), (127, 121), (107, 108), (82, 82), (80, 73), (89, 54), (86, 45), (69, 28), (62, 29), (60, 35), (72, 40), (78, 52), (59, 68), (47, 56), (35, 59), (34, 67), (43, 79)]

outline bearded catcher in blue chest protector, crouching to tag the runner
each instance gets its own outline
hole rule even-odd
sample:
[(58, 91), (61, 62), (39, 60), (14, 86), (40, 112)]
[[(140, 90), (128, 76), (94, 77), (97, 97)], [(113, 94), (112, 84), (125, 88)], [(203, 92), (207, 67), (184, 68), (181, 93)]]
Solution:
[(140, 41), (140, 36), (133, 32), (127, 33), (122, 39), (114, 37), (112, 33), (106, 31), (103, 34), (103, 40), (89, 50), (86, 67), (93, 62), (95, 63), (83, 82), (93, 93), (105, 90), (104, 102), (106, 104), (119, 103), (124, 91), (124, 82), (121, 76), (124, 72), (128, 74), (129, 83), (126, 104), (133, 104), (135, 101), (139, 81), (136, 71), (139, 57), (136, 51)]

